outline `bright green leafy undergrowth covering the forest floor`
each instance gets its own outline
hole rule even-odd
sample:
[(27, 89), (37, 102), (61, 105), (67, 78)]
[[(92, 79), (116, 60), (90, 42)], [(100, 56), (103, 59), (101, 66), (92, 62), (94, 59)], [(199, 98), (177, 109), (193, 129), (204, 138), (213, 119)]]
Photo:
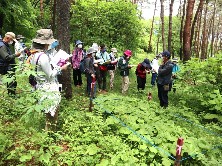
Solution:
[[(85, 84), (73, 87), (73, 98), (61, 101), (56, 132), (44, 131), (38, 93), (31, 92), (26, 73), (17, 75), (16, 98), (6, 94), (5, 86), (0, 89), (0, 165), (169, 166), (174, 164), (179, 137), (184, 139), (182, 165), (222, 165), (220, 91), (212, 91), (208, 105), (203, 90), (215, 85), (203, 81), (192, 85), (196, 74), (185, 79), (189, 69), (183, 71), (174, 85), (176, 93), (169, 92), (167, 109), (159, 106), (151, 75), (145, 90), (137, 91), (134, 68), (128, 93), (121, 94), (117, 70), (114, 90), (97, 93), (92, 112)], [(189, 78), (191, 82), (183, 82)], [(149, 101), (148, 92), (152, 93)]]

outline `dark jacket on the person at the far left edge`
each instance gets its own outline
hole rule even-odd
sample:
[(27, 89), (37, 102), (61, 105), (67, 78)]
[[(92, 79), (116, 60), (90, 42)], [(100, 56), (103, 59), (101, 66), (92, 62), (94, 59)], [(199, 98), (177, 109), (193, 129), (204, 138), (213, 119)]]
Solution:
[(15, 54), (11, 53), (9, 45), (0, 40), (0, 74), (14, 71)]

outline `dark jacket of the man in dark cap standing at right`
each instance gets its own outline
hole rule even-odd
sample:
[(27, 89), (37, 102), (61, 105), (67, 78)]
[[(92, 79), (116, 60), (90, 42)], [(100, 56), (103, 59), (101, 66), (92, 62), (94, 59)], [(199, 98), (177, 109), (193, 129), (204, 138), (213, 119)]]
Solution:
[(173, 64), (169, 60), (164, 65), (160, 65), (157, 76), (157, 83), (167, 85), (171, 83)]

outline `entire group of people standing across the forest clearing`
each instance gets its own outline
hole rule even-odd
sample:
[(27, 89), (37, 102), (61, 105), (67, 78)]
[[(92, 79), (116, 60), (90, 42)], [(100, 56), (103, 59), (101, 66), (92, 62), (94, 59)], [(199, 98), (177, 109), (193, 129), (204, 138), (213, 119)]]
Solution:
[[(15, 57), (19, 57), (19, 64), (26, 63), (35, 66), (35, 81), (34, 90), (40, 92), (39, 103), (44, 104), (46, 114), (45, 129), (52, 128), (58, 118), (58, 108), (61, 101), (61, 85), (57, 80), (57, 76), (62, 70), (66, 70), (71, 60), (73, 68), (73, 81), (76, 87), (82, 86), (82, 75), (86, 76), (86, 91), (87, 94), (95, 98), (96, 84), (98, 84), (99, 92), (107, 92), (107, 74), (110, 75), (109, 88), (114, 88), (115, 70), (118, 68), (122, 77), (122, 93), (125, 94), (129, 88), (129, 70), (134, 66), (129, 64), (132, 56), (131, 50), (125, 50), (123, 55), (117, 58), (117, 49), (112, 48), (108, 53), (106, 46), (100, 46), (93, 43), (92, 46), (85, 52), (83, 42), (77, 40), (75, 48), (69, 57), (65, 59), (65, 63), (58, 65), (54, 61), (57, 53), (56, 46), (58, 41), (54, 39), (53, 32), (50, 29), (40, 29), (36, 32), (36, 37), (32, 40), (31, 51), (27, 51), (23, 43), (23, 36), (13, 32), (7, 32), (3, 38), (0, 38), (0, 82), (1, 75), (8, 74), (9, 77), (15, 77)], [(15, 43), (15, 54), (10, 50), (9, 45)], [(28, 57), (27, 57), (28, 55)], [(163, 62), (159, 66), (158, 59), (162, 57)], [(168, 91), (172, 83), (174, 64), (170, 61), (170, 53), (164, 51), (157, 55), (152, 62), (149, 59), (144, 59), (136, 67), (137, 88), (144, 90), (146, 84), (146, 75), (152, 73), (151, 84), (154, 86), (157, 82), (158, 97), (160, 106), (168, 106)], [(177, 68), (178, 71), (178, 68)], [(157, 81), (156, 81), (157, 79)], [(92, 86), (94, 85), (94, 86)], [(16, 93), (16, 79), (7, 83), (9, 95)], [(93, 92), (93, 93), (92, 93)], [(50, 101), (50, 102), (49, 102)]]

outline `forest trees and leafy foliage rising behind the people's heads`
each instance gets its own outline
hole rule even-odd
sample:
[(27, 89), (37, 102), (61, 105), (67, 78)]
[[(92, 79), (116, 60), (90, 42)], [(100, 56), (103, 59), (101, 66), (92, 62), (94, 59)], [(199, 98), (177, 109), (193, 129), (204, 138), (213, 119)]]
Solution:
[(176, 16), (174, 0), (156, 0), (149, 13), (153, 18), (144, 20), (139, 6), (150, 3), (146, 0), (5, 0), (0, 4), (0, 34), (13, 31), (32, 39), (37, 29), (51, 28), (68, 52), (69, 43), (81, 39), (86, 46), (97, 42), (119, 50), (168, 49), (183, 61), (217, 54), (222, 45), (221, 0), (176, 2)]

